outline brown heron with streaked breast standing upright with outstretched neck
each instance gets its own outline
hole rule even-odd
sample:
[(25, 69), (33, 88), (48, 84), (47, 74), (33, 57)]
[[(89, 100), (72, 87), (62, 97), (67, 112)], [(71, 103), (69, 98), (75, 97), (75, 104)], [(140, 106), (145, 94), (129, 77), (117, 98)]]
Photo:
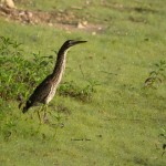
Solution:
[[(71, 46), (85, 43), (86, 41), (79, 40), (68, 40), (63, 43), (61, 49), (58, 52), (56, 62), (53, 72), (48, 75), (33, 91), (28, 101), (25, 102), (25, 106), (22, 110), (22, 113), (27, 113), (30, 107), (42, 103), (46, 105), (52, 101), (55, 95), (56, 89), (62, 80), (62, 75), (65, 70), (66, 63), (66, 53), (71, 49)], [(38, 111), (38, 116), (40, 118), (40, 112)], [(41, 122), (41, 118), (40, 118)]]

